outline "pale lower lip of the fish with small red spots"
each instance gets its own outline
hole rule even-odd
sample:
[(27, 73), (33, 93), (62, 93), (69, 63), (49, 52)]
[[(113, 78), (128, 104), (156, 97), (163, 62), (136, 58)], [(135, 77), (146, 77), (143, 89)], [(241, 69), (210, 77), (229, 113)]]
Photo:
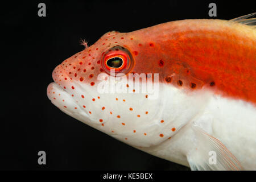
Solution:
[(88, 113), (82, 110), (81, 106), (77, 104), (71, 94), (61, 88), (56, 82), (51, 82), (51, 84), (48, 85), (47, 97), (53, 105), (64, 113), (71, 115), (73, 118), (89, 118)]

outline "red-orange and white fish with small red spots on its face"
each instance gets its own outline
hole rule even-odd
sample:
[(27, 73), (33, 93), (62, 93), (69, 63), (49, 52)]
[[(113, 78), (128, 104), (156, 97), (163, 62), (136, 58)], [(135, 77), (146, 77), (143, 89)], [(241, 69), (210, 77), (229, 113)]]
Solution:
[(255, 170), (255, 14), (83, 40), (53, 70), (47, 96), (86, 125), (192, 170)]

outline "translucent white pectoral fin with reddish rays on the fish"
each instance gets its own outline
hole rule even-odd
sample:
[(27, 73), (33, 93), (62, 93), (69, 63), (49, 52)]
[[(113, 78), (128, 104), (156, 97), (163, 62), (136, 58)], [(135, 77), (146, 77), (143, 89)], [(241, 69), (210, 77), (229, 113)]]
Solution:
[(242, 170), (240, 162), (220, 140), (192, 126), (196, 133), (196, 148), (187, 155), (192, 170)]

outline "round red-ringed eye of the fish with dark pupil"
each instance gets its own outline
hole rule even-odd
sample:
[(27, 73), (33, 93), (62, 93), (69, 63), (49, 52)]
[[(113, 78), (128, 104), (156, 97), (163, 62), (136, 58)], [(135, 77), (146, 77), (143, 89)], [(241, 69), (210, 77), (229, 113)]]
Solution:
[(101, 57), (101, 65), (109, 75), (111, 75), (111, 71), (114, 71), (115, 74), (127, 74), (133, 69), (134, 61), (129, 50), (121, 46), (114, 46), (104, 52)]

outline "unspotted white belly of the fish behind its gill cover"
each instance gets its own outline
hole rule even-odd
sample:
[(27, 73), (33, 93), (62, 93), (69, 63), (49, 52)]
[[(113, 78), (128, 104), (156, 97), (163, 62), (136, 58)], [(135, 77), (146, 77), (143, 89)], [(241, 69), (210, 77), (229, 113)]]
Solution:
[(170, 140), (143, 150), (160, 158), (189, 166), (187, 155), (193, 148), (192, 122), (220, 140), (240, 161), (243, 169), (256, 169), (256, 109), (240, 100), (212, 96), (204, 111), (180, 129)]

